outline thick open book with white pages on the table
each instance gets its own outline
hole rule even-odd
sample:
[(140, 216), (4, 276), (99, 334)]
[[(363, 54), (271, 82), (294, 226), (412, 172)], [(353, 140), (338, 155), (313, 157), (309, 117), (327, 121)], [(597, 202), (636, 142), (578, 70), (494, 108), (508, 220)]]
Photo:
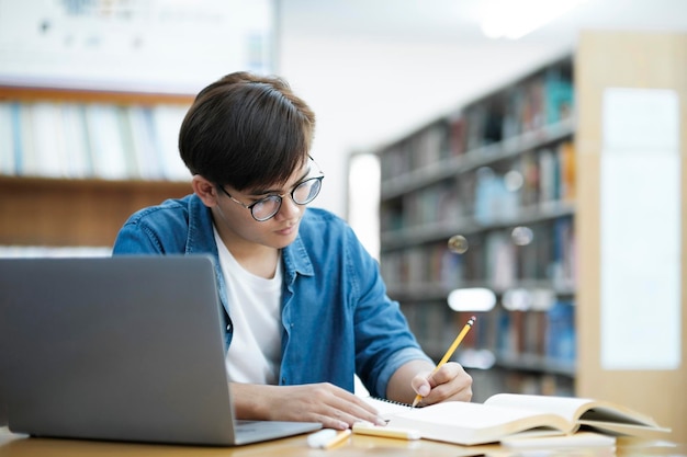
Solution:
[(368, 401), (390, 426), (416, 430), (423, 438), (461, 445), (498, 442), (515, 434), (573, 434), (581, 427), (647, 437), (671, 432), (638, 411), (584, 398), (497, 393), (484, 403), (450, 401), (425, 408), (373, 398)]

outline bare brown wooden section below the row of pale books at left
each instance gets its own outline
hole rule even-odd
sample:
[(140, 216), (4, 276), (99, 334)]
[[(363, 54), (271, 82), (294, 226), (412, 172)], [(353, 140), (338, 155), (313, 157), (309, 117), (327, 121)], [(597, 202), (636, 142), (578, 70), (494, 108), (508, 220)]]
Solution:
[(190, 182), (0, 176), (0, 244), (112, 245), (135, 210), (191, 192)]

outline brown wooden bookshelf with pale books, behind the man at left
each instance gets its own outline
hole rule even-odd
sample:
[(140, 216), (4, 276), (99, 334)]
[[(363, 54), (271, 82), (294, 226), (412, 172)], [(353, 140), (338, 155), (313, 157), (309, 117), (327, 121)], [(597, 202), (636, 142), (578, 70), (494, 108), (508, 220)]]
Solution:
[(191, 192), (189, 94), (0, 87), (0, 245), (111, 247), (144, 206)]

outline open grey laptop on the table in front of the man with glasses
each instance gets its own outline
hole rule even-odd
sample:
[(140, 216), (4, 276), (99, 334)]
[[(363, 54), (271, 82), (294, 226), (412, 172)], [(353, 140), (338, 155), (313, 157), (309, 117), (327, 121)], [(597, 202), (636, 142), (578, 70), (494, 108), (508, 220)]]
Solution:
[(219, 306), (209, 256), (0, 259), (10, 430), (235, 446), (320, 429), (235, 419)]

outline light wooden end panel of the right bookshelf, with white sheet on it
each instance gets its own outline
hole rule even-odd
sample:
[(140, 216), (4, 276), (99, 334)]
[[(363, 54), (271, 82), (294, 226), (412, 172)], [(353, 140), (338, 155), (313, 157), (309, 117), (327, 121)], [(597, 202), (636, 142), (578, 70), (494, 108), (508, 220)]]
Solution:
[[(579, 159), (579, 207), (576, 225), (579, 236), (579, 290), (577, 295), (578, 315), (577, 328), (579, 354), (577, 359), (577, 393), (579, 396), (607, 398), (618, 401), (652, 415), (656, 421), (673, 429), (673, 441), (687, 441), (687, 34), (677, 33), (630, 33), (630, 32), (587, 32), (581, 36), (578, 52), (575, 57), (577, 68), (576, 92), (578, 98), (578, 132), (577, 147)], [(641, 107), (629, 108), (623, 106), (621, 122), (632, 122), (643, 117), (647, 122), (641, 123), (639, 133), (642, 141), (613, 146), (610, 132), (611, 119), (608, 113), (612, 106), (608, 96), (609, 91), (621, 89), (629, 91), (632, 98), (642, 100)], [(667, 91), (667, 92), (666, 92)], [(644, 103), (656, 95), (668, 94), (676, 101), (674, 115), (667, 116), (661, 110), (647, 108)], [(646, 99), (649, 96), (649, 99)], [(630, 100), (632, 101), (632, 100)], [(677, 124), (668, 129), (666, 135), (656, 133), (651, 125), (658, 119), (658, 125), (665, 128), (672, 122)], [(617, 119), (615, 119), (617, 122)], [(633, 134), (633, 132), (630, 132)], [(666, 138), (675, 135), (674, 144), (666, 147)], [(608, 168), (605, 158), (608, 155), (622, 155), (633, 161), (645, 163), (645, 171), (640, 179), (635, 174), (623, 173), (624, 185), (631, 194), (634, 188), (646, 188), (650, 201), (612, 201), (605, 205), (607, 192), (606, 183), (609, 172), (618, 170), (622, 162), (616, 162)], [(672, 159), (669, 165), (654, 169), (655, 163), (664, 163)], [(677, 174), (676, 174), (677, 173)], [(676, 181), (673, 194), (654, 195), (656, 188), (664, 187), (664, 181)], [(647, 212), (651, 206), (673, 208), (677, 224), (678, 239), (666, 235), (668, 224), (675, 219), (655, 217)], [(622, 213), (613, 208), (631, 209), (626, 219)], [(622, 233), (605, 233), (604, 227), (608, 218), (623, 218)], [(646, 224), (650, 229), (644, 230)], [(607, 249), (609, 237), (628, 237), (633, 240), (643, 240), (651, 251), (633, 249), (627, 245), (630, 254), (624, 261), (605, 259), (611, 255)], [(652, 252), (665, 249), (664, 243), (672, 239), (674, 245), (668, 245), (673, 258), (666, 256), (658, 261)], [(649, 252), (649, 255), (644, 253)], [(608, 320), (605, 312), (612, 310), (613, 294), (624, 294), (627, 290), (615, 289), (604, 294), (605, 282), (609, 281), (605, 262), (613, 261), (615, 272), (621, 271), (628, 290), (640, 290), (640, 302), (630, 297), (621, 305), (621, 318)], [(624, 264), (623, 264), (624, 263)], [(656, 274), (657, 273), (657, 274)], [(657, 277), (657, 281), (654, 279)], [(674, 281), (665, 278), (674, 277)], [(677, 283), (677, 284), (675, 284)], [(638, 289), (638, 286), (640, 287)], [(677, 288), (676, 288), (677, 286)], [(654, 290), (673, 290), (675, 296), (668, 300), (665, 296), (650, 294), (649, 298), (642, 293), (644, 287), (654, 287)], [(611, 315), (616, 316), (616, 313)], [(666, 316), (669, 317), (666, 320)], [(618, 322), (618, 321), (622, 322)], [(652, 330), (647, 334), (643, 329)], [(629, 331), (629, 342), (615, 356), (605, 356), (608, 351), (606, 344), (609, 335), (617, 335), (618, 330)], [(663, 336), (677, 330), (676, 341), (664, 340)], [(609, 333), (611, 332), (611, 333)], [(652, 336), (653, 334), (653, 336)], [(615, 339), (618, 341), (619, 339)], [(666, 343), (666, 341), (668, 343)], [(639, 349), (639, 350), (638, 350)], [(619, 366), (613, 358), (629, 355), (629, 364)], [(667, 358), (666, 358), (667, 357)], [(605, 362), (606, 361), (606, 362)], [(662, 362), (661, 362), (662, 361)], [(666, 363), (666, 361), (673, 363)], [(653, 366), (647, 367), (647, 366)]]

